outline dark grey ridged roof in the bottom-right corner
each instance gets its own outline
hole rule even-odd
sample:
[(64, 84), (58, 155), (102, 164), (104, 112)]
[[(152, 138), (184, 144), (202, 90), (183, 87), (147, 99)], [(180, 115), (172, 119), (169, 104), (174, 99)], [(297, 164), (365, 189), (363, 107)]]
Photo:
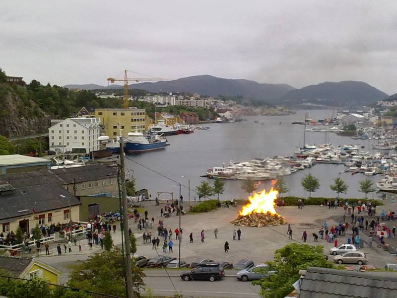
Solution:
[(299, 298), (397, 297), (397, 277), (379, 272), (354, 272), (309, 267)]

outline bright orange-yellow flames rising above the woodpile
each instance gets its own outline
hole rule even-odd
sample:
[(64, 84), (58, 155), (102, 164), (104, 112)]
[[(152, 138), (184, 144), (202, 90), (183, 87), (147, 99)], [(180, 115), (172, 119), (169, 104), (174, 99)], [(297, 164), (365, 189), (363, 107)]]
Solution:
[(277, 215), (274, 206), (276, 205), (278, 191), (273, 188), (269, 192), (264, 189), (260, 193), (254, 193), (250, 196), (248, 200), (250, 203), (243, 206), (243, 210), (240, 211), (240, 215), (249, 215), (251, 213), (270, 213), (272, 215)]

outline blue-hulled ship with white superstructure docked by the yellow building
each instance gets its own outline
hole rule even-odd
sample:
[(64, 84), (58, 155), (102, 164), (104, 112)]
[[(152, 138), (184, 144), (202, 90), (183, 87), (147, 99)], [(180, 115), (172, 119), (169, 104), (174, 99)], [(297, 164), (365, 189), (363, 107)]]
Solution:
[(125, 150), (127, 153), (140, 153), (152, 150), (164, 149), (167, 145), (167, 140), (161, 138), (159, 135), (144, 136), (142, 133), (134, 132), (128, 133), (125, 141)]

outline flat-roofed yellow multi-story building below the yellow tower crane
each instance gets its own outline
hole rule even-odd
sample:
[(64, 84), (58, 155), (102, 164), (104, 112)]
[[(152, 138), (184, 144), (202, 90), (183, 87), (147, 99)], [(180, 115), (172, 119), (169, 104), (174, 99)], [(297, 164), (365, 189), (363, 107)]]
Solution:
[(101, 119), (105, 135), (116, 138), (122, 130), (124, 137), (129, 132), (144, 133), (146, 127), (145, 109), (130, 107), (129, 109), (95, 109), (95, 117)]

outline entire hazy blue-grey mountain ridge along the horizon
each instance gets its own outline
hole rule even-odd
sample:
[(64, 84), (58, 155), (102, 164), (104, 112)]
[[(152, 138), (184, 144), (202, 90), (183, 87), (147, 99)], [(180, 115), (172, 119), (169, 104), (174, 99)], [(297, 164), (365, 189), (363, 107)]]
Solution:
[[(76, 89), (107, 89), (97, 84), (65, 85)], [(110, 89), (122, 88), (122, 85), (110, 85)], [(131, 88), (144, 89), (151, 92), (190, 92), (201, 95), (242, 95), (245, 98), (300, 106), (302, 104), (336, 105), (367, 105), (389, 97), (385, 92), (361, 81), (323, 82), (295, 89), (288, 84), (258, 83), (248, 79), (228, 79), (208, 74), (179, 78), (171, 81), (142, 82), (130, 84)]]

